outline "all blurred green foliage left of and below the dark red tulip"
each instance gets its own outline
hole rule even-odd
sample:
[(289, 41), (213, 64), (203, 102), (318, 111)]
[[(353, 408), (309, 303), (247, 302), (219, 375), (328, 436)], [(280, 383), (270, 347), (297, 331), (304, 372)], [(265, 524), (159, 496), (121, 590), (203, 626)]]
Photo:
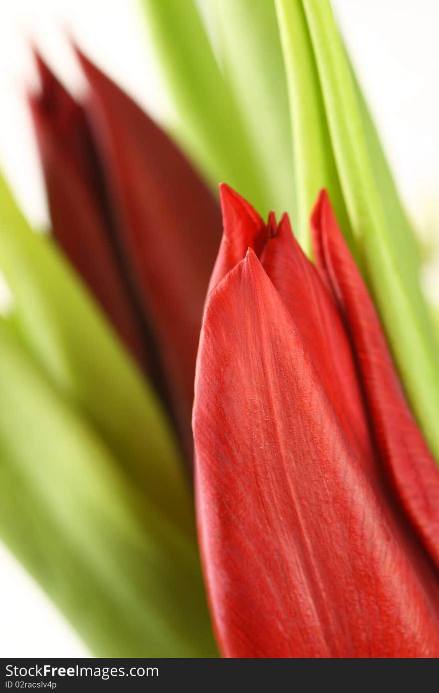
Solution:
[(1, 182), (0, 533), (98, 656), (215, 656), (193, 506), (153, 393)]

